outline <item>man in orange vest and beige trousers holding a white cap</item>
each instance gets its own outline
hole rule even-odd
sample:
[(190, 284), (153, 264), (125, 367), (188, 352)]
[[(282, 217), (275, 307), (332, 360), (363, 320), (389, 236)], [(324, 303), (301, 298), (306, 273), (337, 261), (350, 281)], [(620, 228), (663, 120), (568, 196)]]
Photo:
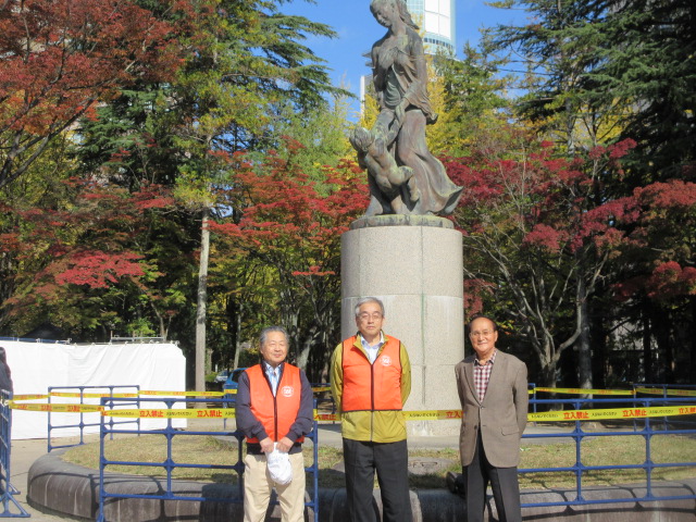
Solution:
[[(302, 440), (312, 430), (312, 387), (304, 372), (285, 362), (289, 346), (282, 326), (261, 332), (263, 361), (239, 376), (237, 430), (247, 437), (244, 459), (244, 520), (260, 522), (275, 486), (283, 522), (304, 520), (304, 462)], [(266, 469), (266, 455), (274, 446), (289, 453), (293, 480), (275, 484)]]

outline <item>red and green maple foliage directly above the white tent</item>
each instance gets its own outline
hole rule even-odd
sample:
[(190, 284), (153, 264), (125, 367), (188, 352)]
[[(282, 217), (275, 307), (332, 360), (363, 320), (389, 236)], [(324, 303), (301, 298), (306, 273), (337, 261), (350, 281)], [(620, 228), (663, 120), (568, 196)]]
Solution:
[(96, 332), (108, 340), (114, 331), (166, 338), (182, 300), (173, 263), (169, 274), (160, 272), (166, 257), (153, 245), (166, 235), (175, 248), (161, 220), (171, 196), (156, 186), (130, 194), (79, 181), (63, 191), (67, 208), (12, 209), (21, 220), (3, 250), (12, 251), (21, 275), (3, 308), (14, 327), (28, 330), (44, 311), (76, 338)]

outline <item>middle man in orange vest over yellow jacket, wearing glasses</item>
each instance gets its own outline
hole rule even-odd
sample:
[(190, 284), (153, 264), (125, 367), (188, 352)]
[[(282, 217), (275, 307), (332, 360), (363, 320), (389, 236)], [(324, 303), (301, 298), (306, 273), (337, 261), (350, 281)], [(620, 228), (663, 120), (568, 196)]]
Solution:
[(401, 411), (411, 391), (409, 356), (399, 339), (382, 331), (380, 299), (360, 299), (355, 311), (358, 333), (336, 347), (331, 364), (331, 389), (341, 419), (348, 520), (376, 520), (376, 471), (384, 522), (411, 522)]

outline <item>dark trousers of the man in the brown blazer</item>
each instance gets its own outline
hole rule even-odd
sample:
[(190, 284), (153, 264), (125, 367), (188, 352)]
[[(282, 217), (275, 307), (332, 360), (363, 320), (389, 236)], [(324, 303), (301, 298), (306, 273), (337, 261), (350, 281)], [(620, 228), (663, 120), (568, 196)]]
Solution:
[(493, 489), (493, 498), (496, 500), (498, 520), (500, 522), (522, 521), (518, 469), (490, 465), (483, 449), (481, 433), (476, 437), (474, 459), (471, 464), (463, 468), (463, 475), (467, 489), (467, 522), (483, 522), (488, 483)]

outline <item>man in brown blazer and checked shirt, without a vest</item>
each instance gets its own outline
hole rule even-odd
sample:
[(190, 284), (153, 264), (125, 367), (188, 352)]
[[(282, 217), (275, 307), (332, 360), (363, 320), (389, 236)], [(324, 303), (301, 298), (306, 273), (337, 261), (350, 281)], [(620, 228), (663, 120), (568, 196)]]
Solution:
[(518, 464), (526, 426), (526, 365), (496, 349), (498, 327), (486, 318), (469, 323), (475, 355), (455, 368), (463, 411), (459, 452), (468, 522), (483, 521), (488, 482), (501, 522), (522, 520)]

